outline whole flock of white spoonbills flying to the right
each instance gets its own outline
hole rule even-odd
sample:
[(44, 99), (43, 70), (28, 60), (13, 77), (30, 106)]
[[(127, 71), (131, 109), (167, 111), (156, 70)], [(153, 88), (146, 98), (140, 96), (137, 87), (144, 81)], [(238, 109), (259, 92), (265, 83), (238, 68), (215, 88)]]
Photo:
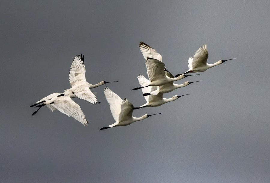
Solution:
[[(143, 91), (142, 96), (145, 97), (146, 103), (140, 107), (134, 107), (133, 104), (130, 101), (128, 101), (128, 99), (125, 98), (123, 100), (111, 89), (106, 87), (104, 89), (104, 94), (110, 105), (110, 110), (116, 122), (107, 127), (103, 127), (100, 130), (111, 128), (114, 126), (126, 126), (131, 123), (134, 123), (135, 121), (140, 121), (145, 118), (148, 118), (149, 116), (157, 115), (157, 114), (152, 115), (145, 114), (140, 118), (136, 118), (132, 116), (132, 113), (134, 109), (140, 109), (143, 107), (161, 106), (164, 103), (174, 101), (179, 97), (184, 96), (184, 95), (181, 96), (175, 95), (171, 98), (163, 98), (164, 93), (169, 93), (177, 88), (187, 86), (191, 83), (199, 82), (199, 81), (194, 82), (187, 81), (180, 85), (173, 83), (174, 81), (181, 80), (188, 76), (199, 75), (199, 74), (186, 75), (187, 73), (204, 72), (208, 68), (220, 65), (223, 62), (227, 61), (227, 60), (219, 60), (213, 64), (206, 63), (208, 58), (208, 51), (207, 46), (203, 45), (196, 51), (195, 55), (193, 55), (193, 58), (190, 57), (188, 59), (189, 69), (183, 74), (177, 74), (174, 77), (173, 74), (171, 74), (167, 70), (165, 64), (162, 62), (161, 55), (154, 48), (150, 47), (144, 42), (140, 42), (139, 47), (140, 51), (143, 54), (143, 57), (146, 60), (145, 63), (149, 80), (146, 79), (143, 76), (143, 74), (139, 74), (137, 79), (140, 83), (140, 87), (134, 88), (132, 90), (142, 89)], [(57, 109), (58, 111), (67, 115), (68, 117), (72, 116), (73, 118), (81, 122), (83, 125), (87, 125), (88, 121), (86, 120), (85, 115), (82, 112), (82, 109), (71, 98), (78, 97), (92, 104), (100, 103), (98, 102), (95, 94), (92, 93), (90, 89), (111, 82), (118, 82), (118, 81), (110, 81), (110, 82), (101, 81), (100, 83), (95, 85), (88, 83), (85, 79), (84, 55), (82, 54), (78, 55), (73, 59), (70, 66), (69, 83), (71, 85), (71, 88), (64, 90), (63, 93), (50, 94), (47, 97), (44, 97), (41, 100), (37, 101), (36, 104), (31, 105), (30, 107), (35, 106), (38, 108), (32, 114), (32, 116), (35, 115), (42, 106), (47, 106), (49, 109), (51, 109), (52, 112)]]

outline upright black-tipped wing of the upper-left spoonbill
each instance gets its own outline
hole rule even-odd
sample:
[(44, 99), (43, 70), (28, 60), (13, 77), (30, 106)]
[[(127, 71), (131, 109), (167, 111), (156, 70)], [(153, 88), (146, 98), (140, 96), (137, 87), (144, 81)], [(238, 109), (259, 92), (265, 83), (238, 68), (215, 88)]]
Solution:
[(72, 86), (86, 82), (85, 79), (85, 66), (84, 66), (84, 55), (76, 56), (71, 65), (69, 70), (69, 83)]

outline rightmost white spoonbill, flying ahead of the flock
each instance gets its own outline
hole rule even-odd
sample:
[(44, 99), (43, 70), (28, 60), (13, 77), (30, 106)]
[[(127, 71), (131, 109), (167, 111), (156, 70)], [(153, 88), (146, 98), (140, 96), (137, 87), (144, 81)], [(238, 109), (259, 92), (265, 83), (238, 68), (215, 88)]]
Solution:
[[(207, 59), (208, 59), (207, 45), (202, 45), (202, 47), (200, 47), (196, 51), (195, 55), (193, 55), (193, 58), (189, 57), (188, 59), (189, 69), (184, 74), (187, 74), (190, 72), (204, 72), (208, 68), (214, 67), (216, 65), (220, 65), (228, 61), (228, 60), (219, 60), (216, 63), (208, 64), (206, 63)], [(233, 60), (233, 59), (229, 59), (229, 60)], [(179, 75), (182, 75), (182, 74), (177, 74), (175, 77), (178, 77)]]

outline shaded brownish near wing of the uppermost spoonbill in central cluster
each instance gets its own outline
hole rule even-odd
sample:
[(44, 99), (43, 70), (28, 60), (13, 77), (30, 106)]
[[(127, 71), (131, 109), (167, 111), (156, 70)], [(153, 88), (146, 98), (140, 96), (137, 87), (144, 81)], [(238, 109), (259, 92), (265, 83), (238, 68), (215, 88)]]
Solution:
[(147, 68), (147, 75), (151, 82), (164, 79), (166, 77), (164, 71), (165, 64), (163, 62), (156, 59), (148, 58), (145, 64)]

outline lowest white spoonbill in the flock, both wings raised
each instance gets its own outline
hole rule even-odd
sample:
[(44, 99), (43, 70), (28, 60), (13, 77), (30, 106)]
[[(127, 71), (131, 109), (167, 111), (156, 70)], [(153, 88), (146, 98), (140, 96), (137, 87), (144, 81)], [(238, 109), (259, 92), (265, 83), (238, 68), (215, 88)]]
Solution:
[[(117, 94), (115, 94), (108, 87), (104, 89), (104, 94), (108, 103), (110, 104), (110, 110), (116, 122), (107, 127), (103, 127), (100, 130), (111, 128), (114, 126), (130, 125), (131, 123), (134, 123), (136, 121), (140, 121), (145, 118), (148, 118), (149, 116), (152, 116), (152, 115), (145, 114), (140, 118), (133, 117), (132, 113), (134, 110), (134, 106), (130, 101), (128, 101), (128, 99), (125, 98), (124, 100), (122, 100)], [(161, 113), (158, 113), (158, 114), (161, 114)], [(156, 115), (156, 114), (153, 114), (153, 115)]]

